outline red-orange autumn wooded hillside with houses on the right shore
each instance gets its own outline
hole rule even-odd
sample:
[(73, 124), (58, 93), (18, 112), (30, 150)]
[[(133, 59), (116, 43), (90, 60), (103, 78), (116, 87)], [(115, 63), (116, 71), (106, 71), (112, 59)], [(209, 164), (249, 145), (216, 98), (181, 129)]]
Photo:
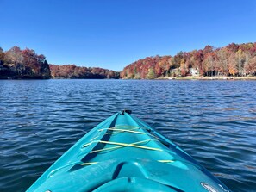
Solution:
[[(196, 71), (196, 72), (195, 72)], [(246, 77), (256, 75), (256, 43), (180, 52), (175, 56), (147, 57), (126, 66), (122, 78), (198, 76)]]

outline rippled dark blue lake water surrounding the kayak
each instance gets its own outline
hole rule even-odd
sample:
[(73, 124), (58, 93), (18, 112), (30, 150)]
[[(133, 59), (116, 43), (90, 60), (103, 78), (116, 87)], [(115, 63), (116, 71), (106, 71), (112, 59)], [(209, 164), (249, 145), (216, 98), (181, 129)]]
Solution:
[(233, 191), (256, 191), (256, 81), (2, 80), (0, 191), (25, 191), (123, 108)]

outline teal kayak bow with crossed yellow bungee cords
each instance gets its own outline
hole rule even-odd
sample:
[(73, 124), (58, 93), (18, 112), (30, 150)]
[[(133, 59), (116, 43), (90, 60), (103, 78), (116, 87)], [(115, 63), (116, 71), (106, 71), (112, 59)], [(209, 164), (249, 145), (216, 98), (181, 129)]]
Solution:
[(230, 190), (172, 141), (124, 110), (79, 139), (27, 191)]

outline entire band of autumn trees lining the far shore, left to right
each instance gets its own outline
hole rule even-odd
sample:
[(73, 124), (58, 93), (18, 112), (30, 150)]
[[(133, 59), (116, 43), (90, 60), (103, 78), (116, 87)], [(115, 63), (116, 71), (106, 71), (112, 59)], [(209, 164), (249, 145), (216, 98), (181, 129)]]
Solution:
[(205, 46), (175, 56), (139, 59), (119, 73), (99, 67), (49, 65), (42, 54), (18, 46), (4, 52), (0, 47), (0, 78), (135, 78), (198, 76), (256, 76), (256, 43), (231, 43), (222, 48)]

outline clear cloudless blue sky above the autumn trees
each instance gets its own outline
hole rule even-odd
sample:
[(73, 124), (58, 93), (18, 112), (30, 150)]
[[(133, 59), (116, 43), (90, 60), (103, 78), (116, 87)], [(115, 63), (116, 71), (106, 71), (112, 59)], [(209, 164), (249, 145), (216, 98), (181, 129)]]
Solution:
[(137, 59), (256, 41), (255, 0), (0, 0), (0, 47), (121, 71)]

